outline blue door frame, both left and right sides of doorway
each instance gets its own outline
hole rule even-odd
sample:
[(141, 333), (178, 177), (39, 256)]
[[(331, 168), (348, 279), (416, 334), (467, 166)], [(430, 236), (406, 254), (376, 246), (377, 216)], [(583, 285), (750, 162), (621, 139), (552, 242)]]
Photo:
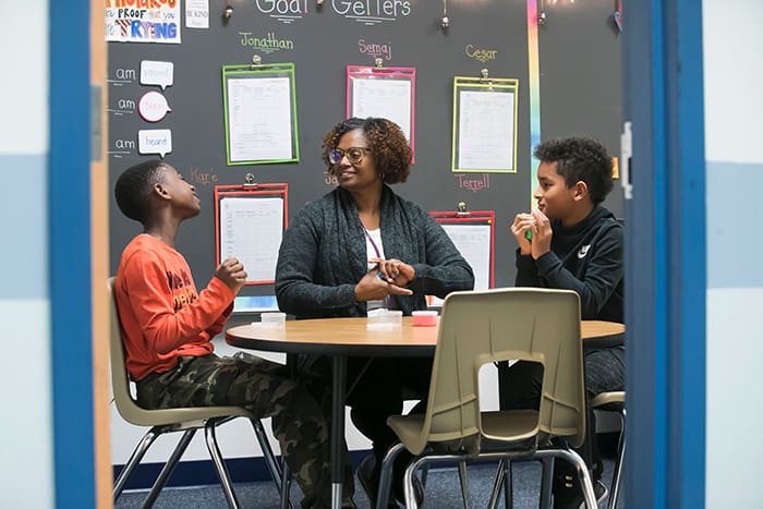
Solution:
[[(625, 3), (623, 111), (633, 123), (634, 196), (626, 204), (631, 444), (626, 505), (698, 508), (704, 507), (705, 485), (701, 2)], [(87, 508), (95, 507), (90, 5), (48, 7), (56, 506)]]

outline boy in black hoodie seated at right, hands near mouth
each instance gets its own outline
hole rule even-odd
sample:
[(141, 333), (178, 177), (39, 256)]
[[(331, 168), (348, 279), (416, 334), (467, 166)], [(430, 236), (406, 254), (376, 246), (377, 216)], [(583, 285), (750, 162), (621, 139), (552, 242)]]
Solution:
[[(613, 189), (606, 148), (593, 140), (570, 137), (538, 145), (535, 157), (541, 161), (537, 208), (518, 214), (511, 225), (519, 244), (516, 286), (574, 290), (582, 319), (622, 323), (622, 226), (601, 205)], [(623, 347), (586, 349), (584, 362), (589, 399), (623, 390)], [(501, 366), (501, 407), (537, 409), (542, 375), (535, 363)], [(596, 497), (604, 498), (591, 410), (579, 452), (592, 470)], [(574, 468), (556, 461), (554, 470), (554, 508), (577, 509), (583, 494)]]

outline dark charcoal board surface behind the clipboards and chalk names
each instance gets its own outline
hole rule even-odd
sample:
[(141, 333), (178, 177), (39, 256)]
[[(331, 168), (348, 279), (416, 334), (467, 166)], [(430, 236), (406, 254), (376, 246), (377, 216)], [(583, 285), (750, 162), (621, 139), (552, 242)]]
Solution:
[[(206, 284), (215, 268), (214, 185), (242, 183), (250, 172), (257, 182), (287, 182), (290, 217), (306, 202), (332, 189), (320, 162), (320, 142), (324, 134), (344, 118), (346, 66), (373, 65), (375, 56), (363, 52), (360, 41), (391, 48), (391, 58), (379, 54), (385, 65), (416, 68), (416, 163), (409, 181), (395, 185), (395, 191), (428, 210), (453, 210), (461, 201), (473, 210), (495, 210), (495, 281), (497, 287), (513, 284), (514, 244), (508, 225), (513, 215), (528, 209), (530, 195), (526, 0), (450, 0), (450, 26), (446, 31), (439, 25), (443, 3), (432, 0), (409, 0), (408, 15), (401, 12), (405, 2), (398, 0), (395, 2), (398, 4), (397, 17), (373, 26), (338, 14), (337, 10), (349, 5), (340, 0), (326, 0), (322, 7), (302, 0), (302, 9), (306, 8), (308, 12), (299, 14), (302, 17), (293, 19), (289, 24), (261, 12), (258, 5), (263, 9), (272, 7), (265, 0), (232, 0), (234, 13), (226, 22), (221, 16), (223, 3), (210, 2), (209, 29), (186, 28), (183, 15), (180, 45), (109, 44), (109, 78), (114, 80), (109, 86), (109, 150), (123, 153), (109, 156), (111, 189), (122, 170), (154, 157), (137, 154), (138, 130), (172, 131), (173, 149), (166, 160), (194, 183), (202, 199), (202, 214), (181, 227), (177, 241), (198, 288)], [(376, 2), (356, 4), (373, 8)], [(562, 24), (562, 14), (557, 16), (556, 11), (562, 11), (556, 8), (555, 12), (547, 9), (549, 23), (541, 27), (543, 138), (549, 137), (547, 133), (554, 133), (554, 136), (588, 133), (605, 141), (616, 154), (619, 152), (620, 129), (619, 41), (607, 20), (611, 15), (611, 2), (578, 0), (573, 7), (574, 10), (564, 11), (567, 17), (564, 31), (557, 28), (557, 20)], [(595, 19), (589, 20), (591, 15)], [(569, 39), (571, 31), (577, 33), (577, 39)], [(293, 46), (265, 53), (242, 45), (241, 33), (291, 41), (287, 44)], [(581, 37), (585, 41), (584, 54), (577, 54), (574, 47)], [(470, 51), (495, 51), (495, 59), (480, 62), (467, 54), (468, 47)], [(554, 53), (554, 58), (546, 52)], [(586, 73), (572, 80), (570, 75), (578, 73), (580, 64), (569, 60), (570, 53), (577, 61), (596, 68), (595, 75)], [(295, 64), (299, 162), (226, 166), (221, 68), (250, 63), (254, 54), (259, 54), (264, 64)], [(605, 61), (611, 56), (614, 60)], [(174, 84), (164, 90), (172, 111), (154, 124), (141, 119), (137, 111), (130, 111), (144, 93), (161, 92), (158, 86), (140, 84), (137, 76), (142, 60), (174, 64)], [(519, 78), (518, 172), (488, 173), (489, 189), (474, 192), (460, 187), (458, 174), (450, 172), (452, 82), (455, 75), (479, 76), (483, 68), (487, 68), (494, 77)], [(553, 80), (548, 80), (549, 76)], [(603, 105), (596, 92), (600, 88), (610, 92), (613, 100), (607, 99)], [(581, 101), (581, 94), (593, 97)], [(462, 178), (483, 180), (483, 174), (462, 173)], [(618, 198), (619, 191), (616, 193)], [(110, 204), (113, 274), (122, 249), (141, 231), (141, 227), (122, 217), (113, 196)], [(614, 206), (610, 204), (619, 213), (617, 205), (619, 202)], [(246, 287), (242, 292), (272, 294), (272, 287)]]

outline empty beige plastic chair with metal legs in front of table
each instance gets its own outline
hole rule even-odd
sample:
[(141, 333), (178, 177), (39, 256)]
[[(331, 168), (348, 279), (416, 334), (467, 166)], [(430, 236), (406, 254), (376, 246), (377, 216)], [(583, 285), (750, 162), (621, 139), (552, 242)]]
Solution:
[[(387, 420), (400, 444), (385, 456), (377, 507), (387, 507), (391, 466), (403, 447), (414, 455), (403, 477), (409, 508), (417, 507), (412, 486), (417, 469), (473, 458), (565, 459), (578, 470), (588, 507), (596, 507), (589, 471), (571, 448), (585, 435), (580, 338), (580, 299), (573, 291), (450, 293), (443, 305), (426, 413)], [(481, 411), (480, 367), (510, 359), (544, 366), (538, 410)]]

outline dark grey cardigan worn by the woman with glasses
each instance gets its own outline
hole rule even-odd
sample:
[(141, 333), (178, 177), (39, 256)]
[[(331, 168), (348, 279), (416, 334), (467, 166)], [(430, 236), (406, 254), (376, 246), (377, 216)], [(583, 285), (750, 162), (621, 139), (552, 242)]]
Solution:
[[(413, 295), (393, 295), (404, 315), (425, 310), (425, 294), (445, 298), (474, 288), (472, 268), (448, 234), (424, 210), (384, 185), (379, 204), (387, 259), (415, 269)], [(366, 237), (352, 196), (337, 187), (305, 205), (283, 235), (276, 268), (281, 311), (298, 317), (365, 316), (355, 284), (367, 271)]]

